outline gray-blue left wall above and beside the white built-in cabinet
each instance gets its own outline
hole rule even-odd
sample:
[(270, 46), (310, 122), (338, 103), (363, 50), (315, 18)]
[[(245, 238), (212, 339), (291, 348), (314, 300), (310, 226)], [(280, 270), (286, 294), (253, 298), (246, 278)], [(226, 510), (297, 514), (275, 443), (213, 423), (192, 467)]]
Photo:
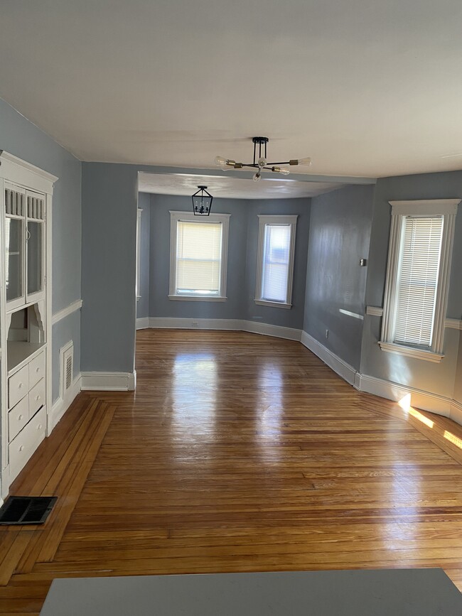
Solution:
[[(0, 148), (57, 175), (53, 193), (53, 313), (80, 299), (82, 247), (81, 163), (0, 99)], [(59, 395), (59, 348), (74, 342), (80, 371), (80, 313), (53, 326), (53, 401)]]

